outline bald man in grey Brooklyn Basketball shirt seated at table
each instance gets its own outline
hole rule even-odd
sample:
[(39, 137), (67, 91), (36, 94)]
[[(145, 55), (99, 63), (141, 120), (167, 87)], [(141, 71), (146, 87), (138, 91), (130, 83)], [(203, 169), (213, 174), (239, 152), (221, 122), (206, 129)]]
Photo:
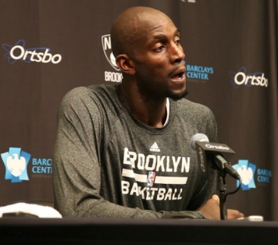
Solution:
[[(60, 106), (53, 178), (63, 216), (220, 219), (215, 173), (204, 179), (190, 148), (197, 133), (216, 141), (215, 118), (184, 99), (179, 40), (153, 8), (129, 8), (115, 20), (122, 84), (75, 88)], [(229, 219), (240, 216), (228, 210)]]

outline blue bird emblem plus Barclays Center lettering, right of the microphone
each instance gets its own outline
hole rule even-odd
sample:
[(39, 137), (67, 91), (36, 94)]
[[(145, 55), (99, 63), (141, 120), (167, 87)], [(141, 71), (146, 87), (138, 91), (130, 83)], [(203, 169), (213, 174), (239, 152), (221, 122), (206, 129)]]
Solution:
[[(247, 159), (239, 159), (238, 164), (233, 165), (233, 168), (241, 177), (243, 191), (255, 189), (258, 184), (270, 184), (272, 171), (265, 168), (257, 168), (255, 164), (252, 164)], [(237, 187), (239, 184), (237, 180)]]

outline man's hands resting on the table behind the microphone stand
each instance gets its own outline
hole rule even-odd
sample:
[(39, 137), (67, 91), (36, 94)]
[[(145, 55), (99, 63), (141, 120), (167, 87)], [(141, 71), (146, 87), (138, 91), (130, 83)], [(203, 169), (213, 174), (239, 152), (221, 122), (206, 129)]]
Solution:
[[(206, 219), (220, 219), (220, 200), (217, 195), (213, 195), (206, 204), (199, 208)], [(238, 219), (244, 215), (238, 210), (227, 210), (227, 219)]]

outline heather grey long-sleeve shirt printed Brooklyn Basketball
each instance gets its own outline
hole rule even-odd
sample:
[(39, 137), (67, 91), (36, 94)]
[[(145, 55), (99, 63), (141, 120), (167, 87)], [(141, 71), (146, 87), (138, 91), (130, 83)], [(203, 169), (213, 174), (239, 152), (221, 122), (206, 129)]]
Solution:
[[(170, 100), (162, 128), (136, 120), (119, 85), (75, 88), (58, 113), (54, 148), (55, 205), (63, 216), (161, 218), (197, 210), (215, 193), (215, 173), (200, 175), (194, 134), (216, 142), (211, 110)], [(177, 213), (176, 213), (177, 212)]]

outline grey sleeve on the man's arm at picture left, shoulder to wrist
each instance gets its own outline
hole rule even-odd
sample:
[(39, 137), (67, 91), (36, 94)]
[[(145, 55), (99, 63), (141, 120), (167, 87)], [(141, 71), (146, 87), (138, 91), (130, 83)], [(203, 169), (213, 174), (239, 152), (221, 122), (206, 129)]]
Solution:
[(55, 207), (63, 216), (159, 219), (204, 219), (194, 211), (154, 212), (124, 207), (100, 196), (100, 157), (103, 139), (101, 110), (87, 88), (68, 93), (58, 112), (54, 147)]

